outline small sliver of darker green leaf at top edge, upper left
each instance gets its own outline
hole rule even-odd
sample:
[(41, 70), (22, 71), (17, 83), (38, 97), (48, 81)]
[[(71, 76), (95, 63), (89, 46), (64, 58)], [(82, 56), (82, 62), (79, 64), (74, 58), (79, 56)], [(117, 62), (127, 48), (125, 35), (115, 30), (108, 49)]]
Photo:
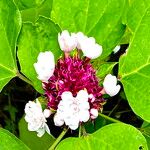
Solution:
[(45, 0), (14, 0), (20, 10), (38, 7)]

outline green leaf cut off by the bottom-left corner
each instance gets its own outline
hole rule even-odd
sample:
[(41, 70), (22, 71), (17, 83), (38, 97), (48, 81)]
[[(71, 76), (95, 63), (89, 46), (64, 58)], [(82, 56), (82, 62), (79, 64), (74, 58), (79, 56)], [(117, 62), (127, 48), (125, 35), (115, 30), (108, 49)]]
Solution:
[(29, 148), (17, 139), (12, 133), (0, 128), (1, 150), (29, 150)]

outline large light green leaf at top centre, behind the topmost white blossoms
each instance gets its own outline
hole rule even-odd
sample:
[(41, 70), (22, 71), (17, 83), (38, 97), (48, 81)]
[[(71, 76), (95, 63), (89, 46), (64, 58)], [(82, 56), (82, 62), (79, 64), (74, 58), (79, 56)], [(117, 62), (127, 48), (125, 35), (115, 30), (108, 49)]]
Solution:
[(52, 20), (62, 30), (82, 31), (103, 46), (108, 56), (125, 31), (121, 23), (126, 0), (53, 0)]

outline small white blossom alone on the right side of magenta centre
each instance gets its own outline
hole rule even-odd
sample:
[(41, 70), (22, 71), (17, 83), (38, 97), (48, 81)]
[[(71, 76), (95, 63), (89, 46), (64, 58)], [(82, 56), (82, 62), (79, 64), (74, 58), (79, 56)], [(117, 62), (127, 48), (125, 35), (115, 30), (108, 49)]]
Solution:
[(117, 85), (117, 78), (108, 74), (103, 82), (105, 92), (110, 96), (115, 96), (120, 91), (120, 85)]

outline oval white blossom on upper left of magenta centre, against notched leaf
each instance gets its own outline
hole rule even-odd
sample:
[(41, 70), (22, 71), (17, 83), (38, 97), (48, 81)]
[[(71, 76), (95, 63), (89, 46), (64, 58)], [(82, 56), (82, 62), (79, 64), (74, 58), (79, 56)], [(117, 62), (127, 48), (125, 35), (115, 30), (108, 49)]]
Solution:
[(47, 82), (54, 73), (54, 55), (50, 51), (40, 52), (37, 60), (37, 63), (34, 63), (34, 68), (38, 74), (38, 79)]

